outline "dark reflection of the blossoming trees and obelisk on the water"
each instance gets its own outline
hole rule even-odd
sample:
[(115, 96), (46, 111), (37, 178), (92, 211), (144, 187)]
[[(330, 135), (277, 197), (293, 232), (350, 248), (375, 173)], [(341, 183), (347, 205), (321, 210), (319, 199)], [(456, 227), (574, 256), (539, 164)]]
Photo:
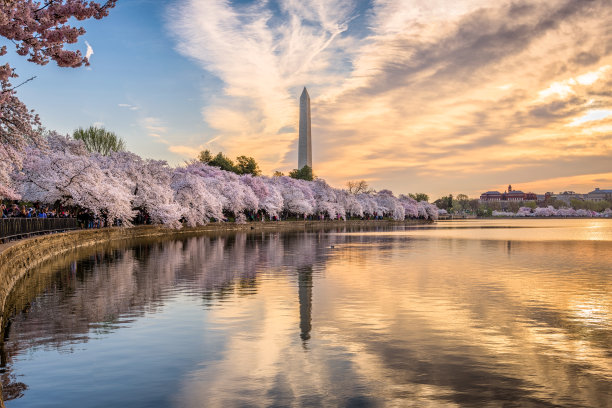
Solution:
[[(237, 233), (102, 249), (78, 260), (64, 257), (33, 270), (16, 285), (2, 343), (5, 400), (27, 389), (10, 372), (12, 358), (31, 348), (65, 350), (154, 313), (175, 293), (214, 307), (257, 293), (258, 274), (298, 271), (302, 338), (310, 335), (312, 265), (337, 238), (320, 233)], [(331, 241), (330, 241), (331, 240)], [(74, 256), (74, 255), (73, 255)], [(304, 272), (308, 271), (308, 272)]]

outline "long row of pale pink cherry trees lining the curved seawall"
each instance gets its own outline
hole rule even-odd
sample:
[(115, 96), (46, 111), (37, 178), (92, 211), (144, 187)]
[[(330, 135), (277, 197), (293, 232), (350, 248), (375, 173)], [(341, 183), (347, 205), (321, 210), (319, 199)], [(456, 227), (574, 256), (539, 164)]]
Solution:
[(438, 208), (409, 196), (395, 197), (389, 190), (350, 194), (324, 180), (237, 175), (201, 162), (171, 168), (162, 160), (142, 159), (130, 152), (109, 156), (90, 153), (80, 140), (48, 135), (44, 146), (24, 150), (23, 168), (11, 179), (24, 199), (61, 203), (130, 225), (140, 211), (155, 224), (180, 228), (222, 221), (236, 222), (263, 211), (270, 218), (288, 215), (325, 215), (346, 219), (390, 216), (436, 219)]

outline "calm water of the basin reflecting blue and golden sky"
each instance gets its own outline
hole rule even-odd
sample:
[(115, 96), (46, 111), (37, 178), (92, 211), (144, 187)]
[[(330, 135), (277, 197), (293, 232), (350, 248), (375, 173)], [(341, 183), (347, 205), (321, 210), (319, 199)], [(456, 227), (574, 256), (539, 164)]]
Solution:
[(612, 220), (200, 236), (15, 290), (6, 406), (612, 406)]

